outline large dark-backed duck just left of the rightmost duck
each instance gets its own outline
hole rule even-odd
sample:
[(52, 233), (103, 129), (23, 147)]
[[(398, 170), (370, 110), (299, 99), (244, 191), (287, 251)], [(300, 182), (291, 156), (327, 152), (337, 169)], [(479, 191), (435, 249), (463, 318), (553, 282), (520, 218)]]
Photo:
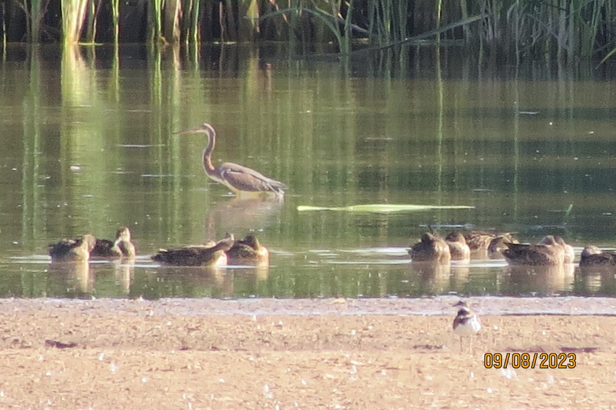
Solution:
[(509, 265), (559, 265), (564, 263), (565, 250), (552, 235), (545, 236), (538, 244), (506, 243), (501, 253)]

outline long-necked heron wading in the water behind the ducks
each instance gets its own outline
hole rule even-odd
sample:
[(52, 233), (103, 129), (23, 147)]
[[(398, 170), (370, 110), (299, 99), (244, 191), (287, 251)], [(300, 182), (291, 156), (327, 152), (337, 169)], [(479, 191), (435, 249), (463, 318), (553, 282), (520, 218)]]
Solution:
[(273, 192), (276, 195), (284, 195), (288, 187), (277, 180), (266, 177), (254, 171), (254, 169), (234, 163), (224, 163), (218, 167), (212, 164), (212, 151), (216, 145), (216, 130), (209, 124), (201, 124), (198, 127), (177, 131), (175, 134), (208, 134), (208, 146), (203, 150), (203, 169), (208, 177), (222, 183), (237, 195), (242, 192), (258, 193)]

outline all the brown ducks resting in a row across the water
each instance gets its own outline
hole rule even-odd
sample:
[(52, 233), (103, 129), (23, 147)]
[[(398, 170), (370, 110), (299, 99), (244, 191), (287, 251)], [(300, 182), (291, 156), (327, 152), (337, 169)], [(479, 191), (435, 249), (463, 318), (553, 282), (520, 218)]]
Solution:
[[(53, 262), (77, 262), (96, 258), (115, 259), (135, 257), (131, 231), (120, 228), (115, 240), (95, 238), (91, 234), (76, 239), (62, 239), (49, 245)], [(498, 235), (482, 231), (452, 232), (442, 238), (434, 231), (426, 232), (421, 240), (408, 249), (413, 262), (447, 264), (451, 260), (468, 260), (471, 255), (487, 254), (490, 259), (505, 258), (509, 265), (549, 266), (573, 263), (573, 247), (556, 235), (545, 236), (537, 244), (521, 244), (511, 233)], [(225, 235), (218, 242), (160, 249), (152, 259), (171, 266), (224, 266), (227, 263), (269, 263), (269, 251), (254, 235), (235, 239)], [(580, 266), (614, 265), (616, 252), (601, 251), (586, 246), (580, 255)]]

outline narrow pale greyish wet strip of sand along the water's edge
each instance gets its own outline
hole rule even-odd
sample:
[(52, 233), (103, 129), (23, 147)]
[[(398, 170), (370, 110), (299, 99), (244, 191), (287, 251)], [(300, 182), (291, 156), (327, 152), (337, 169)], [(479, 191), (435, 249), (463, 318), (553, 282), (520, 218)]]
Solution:
[[(456, 295), (423, 299), (0, 299), (0, 311), (55, 308), (115, 310), (120, 315), (453, 315)], [(610, 297), (469, 297), (480, 315), (616, 315)]]

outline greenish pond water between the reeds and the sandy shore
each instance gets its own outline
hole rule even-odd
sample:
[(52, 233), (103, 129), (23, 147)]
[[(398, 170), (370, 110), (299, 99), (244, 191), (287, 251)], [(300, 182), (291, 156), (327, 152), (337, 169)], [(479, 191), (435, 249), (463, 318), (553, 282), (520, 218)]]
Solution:
[[(616, 247), (616, 71), (478, 64), (460, 50), (293, 60), (277, 46), (150, 52), (6, 50), (0, 70), (0, 296), (321, 297), (614, 295), (614, 274), (512, 271), (472, 260), (434, 271), (405, 248), (428, 225), (546, 234)], [(233, 198), (214, 163), (289, 185)], [(301, 205), (474, 209), (298, 212)], [(570, 212), (567, 210), (570, 209)], [(50, 265), (47, 244), (129, 226), (134, 265)], [(160, 268), (160, 247), (255, 233), (269, 269)]]

